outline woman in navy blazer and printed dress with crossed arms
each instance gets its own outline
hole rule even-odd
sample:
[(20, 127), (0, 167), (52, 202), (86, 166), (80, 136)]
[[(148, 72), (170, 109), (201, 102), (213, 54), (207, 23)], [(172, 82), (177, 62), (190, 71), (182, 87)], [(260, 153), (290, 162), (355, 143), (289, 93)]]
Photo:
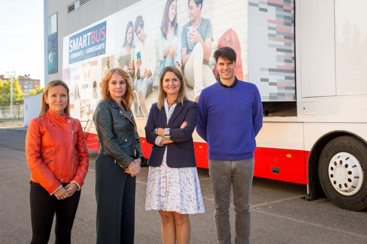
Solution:
[(192, 140), (197, 103), (187, 100), (185, 87), (181, 71), (165, 67), (158, 102), (150, 108), (145, 126), (146, 141), (153, 144), (145, 209), (158, 210), (164, 244), (189, 243), (188, 214), (205, 211)]

